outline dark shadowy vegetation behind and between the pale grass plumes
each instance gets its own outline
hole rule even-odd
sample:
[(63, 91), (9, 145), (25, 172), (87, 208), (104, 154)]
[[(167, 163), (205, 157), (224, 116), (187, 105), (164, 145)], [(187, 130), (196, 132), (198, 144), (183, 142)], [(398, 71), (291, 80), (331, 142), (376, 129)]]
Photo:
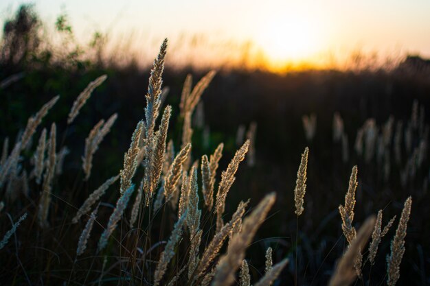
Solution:
[[(29, 180), (28, 193), (20, 193), (14, 200), (6, 200), (7, 184), (1, 186), (0, 201), (5, 202), (5, 207), (0, 211), (0, 239), (11, 228), (12, 221), (16, 222), (25, 212), (28, 217), (8, 245), (0, 250), (0, 281), (5, 285), (94, 285), (100, 281), (104, 285), (132, 282), (132, 285), (152, 285), (152, 281), (140, 279), (139, 284), (130, 278), (141, 276), (129, 273), (130, 265), (121, 263), (129, 257), (122, 253), (124, 250), (115, 250), (119, 241), (111, 241), (106, 252), (93, 253), (97, 237), (115, 206), (119, 182), (102, 198), (108, 206), (100, 206), (101, 224), (91, 234), (94, 238), (89, 247), (91, 253), (82, 256), (78, 263), (76, 246), (86, 219), (80, 224), (71, 224), (76, 208), (88, 195), (122, 169), (131, 134), (137, 122), (144, 118), (150, 67), (138, 67), (133, 60), (117, 64), (102, 56), (106, 44), (102, 34), (95, 34), (88, 47), (79, 47), (65, 16), (58, 17), (56, 27), (64, 40), (63, 47), (67, 48), (58, 49), (47, 43), (41, 34), (42, 25), (31, 6), (23, 6), (4, 25), (0, 55), (0, 142), (9, 137), (10, 154), (27, 119), (52, 97), (60, 95), (30, 147), (23, 151), (22, 156), (26, 158), (23, 165), (30, 168), (25, 165), (30, 161), (27, 158), (33, 156), (41, 130), (47, 128), (49, 134), (52, 122), (56, 123), (58, 150), (67, 145), (69, 154), (65, 157), (63, 173), (56, 177), (56, 187), (52, 189), (49, 228), (39, 227), (36, 220), (41, 184)], [(213, 154), (223, 142), (219, 170), (225, 170), (245, 141), (246, 131), (240, 134), (238, 130), (249, 130), (251, 123), (256, 123), (254, 164), (247, 158), (240, 165), (225, 205), (225, 221), (228, 221), (240, 200), (250, 198), (249, 206), (255, 207), (267, 193), (277, 194), (271, 213), (247, 250), (253, 281), (264, 274), (264, 253), (271, 246), (275, 263), (289, 259), (274, 285), (328, 282), (335, 262), (348, 248), (338, 206), (344, 204), (351, 169), (357, 165), (359, 184), (354, 209), (357, 229), (380, 209), (384, 210), (383, 226), (397, 215), (394, 226), (381, 241), (376, 262), (372, 266), (368, 262), (363, 264), (363, 277), (357, 283), (385, 285), (390, 241), (409, 195), (414, 204), (398, 285), (430, 283), (429, 119), (426, 116), (430, 112), (430, 69), (427, 65), (425, 61), (409, 58), (390, 70), (297, 71), (282, 75), (240, 69), (217, 71), (194, 113), (192, 158)], [(207, 71), (192, 67), (170, 69), (167, 64), (163, 73), (163, 86), (170, 89), (163, 108), (172, 106), (168, 140), (174, 141), (176, 152), (183, 141), (183, 117), (178, 106), (188, 73), (197, 82)], [(89, 82), (103, 74), (107, 80), (95, 89), (74, 124), (67, 124), (67, 115), (76, 97)], [(117, 121), (95, 153), (93, 172), (85, 181), (81, 167), (85, 139), (100, 119), (106, 120), (115, 112)], [(304, 120), (314, 122), (315, 135), (308, 126), (310, 134), (306, 138)], [(362, 141), (357, 139), (360, 132)], [(297, 219), (294, 189), (299, 154), (306, 146), (309, 154), (304, 213)], [(219, 174), (220, 171), (218, 182)], [(152, 240), (148, 246), (146, 243), (142, 246), (142, 251), (168, 240), (177, 215), (168, 206), (163, 208), (166, 210), (150, 219), (164, 224), (154, 224), (152, 233), (146, 233)], [(146, 210), (146, 216), (142, 215), (145, 224), (150, 212)], [(203, 211), (203, 217), (210, 217), (210, 211)], [(213, 223), (207, 220), (207, 224)], [(126, 222), (118, 228), (115, 237), (124, 239), (120, 242), (130, 249), (134, 243), (133, 232)], [(208, 227), (205, 230), (214, 232)], [(209, 236), (203, 235), (202, 246), (207, 239)], [(154, 249), (151, 255), (158, 259), (162, 248)], [(223, 252), (226, 249), (227, 246)], [(363, 252), (365, 261), (367, 248)], [(148, 265), (152, 263), (150, 260), (146, 261)], [(172, 265), (181, 264), (174, 261)], [(168, 277), (174, 276), (174, 271), (169, 268)], [(103, 272), (103, 278), (99, 279)]]

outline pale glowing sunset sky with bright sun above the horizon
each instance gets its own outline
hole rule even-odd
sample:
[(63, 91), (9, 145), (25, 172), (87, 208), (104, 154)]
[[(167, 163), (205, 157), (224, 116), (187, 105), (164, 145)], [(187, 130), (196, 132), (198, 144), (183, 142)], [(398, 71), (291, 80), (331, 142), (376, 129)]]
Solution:
[[(4, 20), (23, 1), (1, 1)], [(429, 0), (36, 0), (43, 21), (66, 13), (80, 40), (93, 32), (128, 43), (142, 58), (165, 37), (177, 62), (260, 60), (314, 64), (356, 51), (430, 58)]]

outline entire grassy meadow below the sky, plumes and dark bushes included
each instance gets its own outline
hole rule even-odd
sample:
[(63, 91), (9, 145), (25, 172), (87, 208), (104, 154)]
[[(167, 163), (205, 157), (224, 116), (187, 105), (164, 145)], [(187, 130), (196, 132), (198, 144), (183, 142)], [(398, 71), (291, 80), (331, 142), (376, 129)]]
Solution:
[(430, 72), (152, 67), (38, 36), (0, 58), (4, 285), (427, 285)]

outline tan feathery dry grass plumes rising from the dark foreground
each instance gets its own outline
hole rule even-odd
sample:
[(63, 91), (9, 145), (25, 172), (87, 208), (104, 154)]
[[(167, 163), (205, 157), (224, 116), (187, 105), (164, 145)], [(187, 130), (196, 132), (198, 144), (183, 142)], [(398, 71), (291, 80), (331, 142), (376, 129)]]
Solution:
[[(79, 195), (76, 195), (76, 193), (64, 195), (60, 191), (62, 186), (58, 185), (59, 180), (56, 180), (62, 173), (58, 170), (63, 165), (64, 156), (67, 154), (63, 143), (60, 143), (58, 145), (60, 148), (57, 148), (56, 123), (52, 123), (48, 140), (46, 139), (47, 130), (43, 129), (32, 156), (26, 157), (23, 153), (25, 147), (29, 145), (30, 139), (36, 133), (36, 128), (41, 125), (43, 117), (58, 101), (58, 97), (54, 97), (34, 117), (30, 117), (23, 135), (19, 136), (19, 140), (10, 154), (8, 154), (9, 141), (8, 139), (4, 141), (3, 153), (0, 159), (0, 183), (2, 185), (1, 191), (4, 189), (8, 204), (1, 202), (0, 211), (5, 206), (10, 213), (21, 212), (20, 208), (27, 204), (25, 200), (29, 197), (28, 193), (32, 191), (29, 191), (29, 189), (32, 189), (28, 187), (29, 182), (32, 187), (38, 186), (43, 177), (43, 185), (39, 188), (42, 192), (40, 194), (32, 193), (32, 196), (37, 197), (37, 203), (33, 201), (28, 206), (25, 206), (31, 217), (28, 220), (38, 222), (38, 226), (31, 224), (31, 231), (39, 239), (39, 237), (53, 236), (54, 230), (59, 229), (60, 233), (65, 232), (67, 236), (73, 236), (74, 246), (76, 246), (76, 243), (78, 244), (76, 259), (70, 259), (71, 269), (64, 270), (67, 272), (68, 280), (64, 279), (63, 274), (57, 274), (53, 271), (51, 268), (52, 257), (47, 259), (41, 255), (38, 262), (45, 263), (45, 266), (43, 266), (45, 269), (40, 270), (43, 273), (41, 276), (45, 279), (43, 285), (63, 283), (66, 285), (89, 285), (90, 279), (93, 278), (91, 283), (99, 283), (99, 285), (102, 281), (106, 282), (106, 285), (109, 281), (113, 281), (113, 283), (129, 285), (227, 286), (236, 282), (239, 269), (240, 274), (238, 276), (240, 279), (238, 284), (242, 286), (251, 285), (251, 278), (256, 278), (257, 282), (254, 285), (258, 286), (272, 285), (278, 278), (280, 281), (284, 281), (285, 277), (282, 276), (282, 271), (288, 263), (288, 257), (285, 257), (284, 254), (282, 254), (282, 257), (276, 255), (276, 248), (269, 246), (265, 261), (257, 262), (264, 265), (264, 274), (253, 272), (251, 275), (249, 265), (245, 260), (246, 250), (256, 236), (258, 228), (266, 219), (270, 219), (269, 211), (275, 205), (275, 193), (269, 193), (264, 196), (248, 215), (245, 215), (245, 213), (249, 200), (240, 202), (229, 222), (224, 222), (225, 216), (228, 215), (225, 212), (227, 202), (229, 202), (227, 195), (236, 180), (240, 162), (246, 158), (246, 160), (249, 160), (249, 165), (253, 166), (256, 160), (256, 124), (251, 125), (247, 134), (248, 140), (243, 143), (242, 147), (231, 159), (227, 169), (222, 172), (214, 203), (216, 171), (222, 157), (224, 145), (220, 143), (209, 158), (207, 155), (196, 157), (201, 158), (201, 162), (196, 160), (194, 164), (191, 164), (191, 150), (194, 109), (199, 104), (203, 92), (214, 78), (215, 73), (213, 71), (207, 73), (194, 88), (192, 88), (191, 76), (189, 75), (186, 78), (180, 104), (180, 120), (178, 121), (183, 123), (182, 128), (179, 128), (182, 130), (181, 150), (177, 153), (174, 152), (173, 141), (168, 141), (170, 117), (173, 114), (172, 108), (170, 106), (163, 108), (162, 106), (163, 98), (167, 94), (166, 91), (162, 92), (161, 86), (167, 44), (167, 40), (165, 40), (161, 45), (159, 55), (155, 59), (154, 67), (150, 73), (148, 92), (145, 97), (144, 119), (137, 123), (131, 137), (130, 147), (124, 154), (124, 164), (119, 171), (119, 175), (115, 176), (118, 173), (111, 175), (112, 177), (109, 180), (106, 180), (91, 194), (88, 191), (89, 183), (91, 182), (89, 180), (90, 175), (91, 173), (93, 176), (97, 174), (97, 170), (93, 170), (92, 167), (92, 158), (98, 150), (102, 139), (117, 119), (116, 114), (112, 115), (106, 123), (104, 119), (100, 119), (85, 140), (85, 150), (82, 156), (83, 182), (79, 182), (79, 184), (71, 188)], [(91, 82), (78, 96), (69, 113), (67, 126), (73, 123), (93, 89), (102, 84), (104, 80), (106, 80), (106, 76), (103, 75)], [(162, 117), (157, 125), (158, 117), (161, 113)], [(334, 128), (337, 131), (333, 139), (340, 141), (346, 136), (343, 132), (343, 121), (339, 115), (335, 118)], [(387, 124), (385, 136), (388, 137), (390, 136), (389, 134), (392, 134), (390, 131), (392, 126), (392, 123)], [(418, 123), (416, 123), (416, 126), (418, 126)], [(375, 145), (375, 134), (372, 134), (375, 128), (374, 121), (368, 121), (365, 124), (363, 129), (365, 144)], [(310, 133), (312, 133), (312, 136), (308, 136), (309, 141), (315, 135), (315, 127)], [(361, 143), (360, 141), (356, 145), (360, 148), (361, 145), (359, 144)], [(380, 149), (384, 149), (388, 145), (388, 143), (381, 144)], [(348, 145), (348, 141), (346, 141), (346, 145)], [(373, 147), (367, 146), (365, 148), (364, 156), (366, 160), (370, 160), (374, 155), (374, 150), (378, 150), (374, 145)], [(60, 149), (60, 151), (57, 151), (57, 149)], [(251, 151), (251, 154), (247, 156), (248, 151)], [(294, 193), (288, 193), (288, 198), (295, 200), (295, 214), (297, 217), (305, 214), (304, 195), (306, 192), (308, 152), (308, 147), (306, 147), (297, 171), (295, 191)], [(348, 150), (343, 152), (348, 153)], [(376, 151), (376, 153), (378, 152), (381, 153), (382, 151)], [(416, 155), (413, 157), (416, 159), (414, 162), (419, 161), (418, 158), (423, 156), (420, 152), (422, 152), (420, 149), (416, 150)], [(47, 158), (45, 158), (45, 153), (47, 153)], [(32, 163), (34, 169), (29, 177), (27, 177), (25, 170), (29, 164), (23, 163), (24, 160), (29, 159), (28, 157), (32, 157), (34, 160)], [(381, 156), (380, 158), (384, 157)], [(200, 171), (199, 166), (201, 167)], [(361, 274), (363, 268), (361, 251), (364, 249), (372, 230), (372, 243), (370, 244), (368, 260), (373, 265), (381, 238), (387, 235), (389, 227), (394, 221), (394, 219), (390, 220), (387, 226), (381, 230), (382, 211), (380, 211), (376, 220), (373, 217), (367, 219), (359, 232), (356, 232), (353, 221), (358, 184), (357, 172), (357, 166), (354, 166), (345, 197), (345, 204), (339, 206), (342, 220), (341, 229), (348, 241), (348, 249), (337, 267), (335, 267), (330, 285), (349, 285), (354, 282), (357, 274)], [(408, 176), (411, 176), (411, 171), (408, 172)], [(199, 178), (199, 174), (201, 174), (201, 178)], [(77, 176), (77, 178), (77, 180), (81, 179), (80, 176)], [(110, 186), (117, 187), (115, 181), (118, 178), (120, 178), (120, 186), (117, 191), (112, 191), (109, 195), (106, 195), (108, 197), (106, 200), (99, 202)], [(23, 183), (17, 184), (16, 182), (18, 181), (23, 181)], [(8, 182), (8, 185), (3, 188), (4, 182)], [(140, 184), (135, 192), (136, 182), (140, 182)], [(199, 184), (200, 182), (201, 184)], [(82, 184), (86, 187), (86, 191), (82, 191), (84, 189)], [(18, 185), (19, 187), (17, 187)], [(25, 185), (27, 187), (23, 187)], [(81, 192), (87, 197), (83, 203), (78, 201), (82, 197)], [(136, 193), (135, 197), (133, 197), (134, 193)], [(12, 198), (16, 200), (12, 200)], [(65, 215), (65, 217), (60, 217), (59, 219), (57, 215), (62, 213), (62, 210), (58, 209), (58, 204), (52, 203), (52, 198), (63, 200), (69, 206), (73, 206), (75, 208), (73, 213), (77, 210), (76, 215), (72, 218)], [(117, 198), (115, 205), (111, 202), (112, 198)], [(132, 198), (134, 198), (134, 203), (132, 207), (129, 207), (128, 202)], [(99, 204), (93, 208), (97, 202)], [(77, 208), (76, 206), (79, 205), (80, 208)], [(89, 215), (91, 208), (93, 208), (93, 211)], [(392, 241), (392, 253), (387, 259), (387, 283), (389, 285), (395, 285), (400, 275), (399, 265), (403, 252), (405, 252), (404, 240), (407, 233), (410, 209), (411, 198), (405, 202), (405, 208)], [(106, 213), (110, 213), (110, 215), (106, 216)], [(12, 253), (13, 249), (10, 246), (12, 243), (8, 243), (12, 235), (15, 235), (16, 247), (19, 247), (21, 239), (33, 235), (33, 233), (27, 233), (26, 235), (25, 229), (16, 231), (19, 224), (25, 219), (26, 214), (13, 224), (12, 229), (5, 234), (1, 241), (0, 249), (6, 248), (9, 253)], [(76, 232), (72, 231), (71, 224), (77, 224), (82, 217), (88, 217), (86, 225), (82, 228), (78, 224), (73, 228), (81, 233), (80, 237), (78, 237), (73, 235)], [(127, 219), (128, 217), (130, 219)], [(5, 219), (3, 216), (1, 218)], [(95, 234), (102, 233), (97, 247), (95, 247), (95, 239), (91, 239), (91, 232)], [(92, 237), (94, 236), (92, 235)], [(38, 242), (41, 241), (38, 239), (34, 244), (38, 250), (43, 250), (45, 246), (43, 246), (43, 243)], [(298, 244), (298, 239), (296, 240)], [(69, 246), (62, 245), (61, 239), (54, 237), (53, 241), (61, 249), (58, 251), (63, 251), (63, 248), (69, 248)], [(86, 257), (86, 250), (91, 255), (89, 254)], [(89, 261), (92, 262), (89, 263)], [(278, 263), (274, 264), (273, 261), (278, 261)], [(306, 263), (306, 261), (302, 262)], [(365, 263), (366, 261), (364, 265)], [(297, 274), (297, 263), (294, 266)], [(97, 270), (95, 270), (96, 267)], [(285, 270), (284, 273), (286, 272), (289, 272), (289, 270)], [(46, 273), (49, 278), (46, 278)], [(104, 276), (109, 276), (109, 278), (104, 280)]]

